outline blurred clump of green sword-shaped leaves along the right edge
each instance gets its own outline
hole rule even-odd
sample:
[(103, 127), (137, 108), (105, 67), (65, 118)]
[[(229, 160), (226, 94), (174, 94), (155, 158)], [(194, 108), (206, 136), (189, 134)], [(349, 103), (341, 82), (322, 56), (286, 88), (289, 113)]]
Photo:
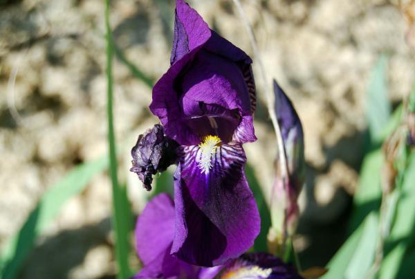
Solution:
[[(386, 58), (381, 57), (368, 89), (367, 117), (371, 142), (353, 198), (350, 236), (329, 262), (325, 279), (415, 276), (414, 267), (409, 264), (415, 254), (415, 152), (405, 141), (405, 113), (408, 109), (400, 105), (389, 117), (386, 66)], [(414, 95), (412, 92), (409, 103)], [(397, 141), (398, 150), (393, 157), (396, 170), (392, 181), (394, 188), (386, 190), (383, 185), (386, 183), (385, 168), (382, 166), (387, 158), (381, 143), (391, 137), (404, 140)]]

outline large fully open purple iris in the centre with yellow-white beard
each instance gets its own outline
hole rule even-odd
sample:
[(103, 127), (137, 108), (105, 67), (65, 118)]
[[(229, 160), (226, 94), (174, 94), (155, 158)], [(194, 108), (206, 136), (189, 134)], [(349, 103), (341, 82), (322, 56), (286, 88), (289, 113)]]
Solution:
[(260, 230), (243, 170), (242, 144), (257, 139), (252, 60), (177, 0), (170, 62), (150, 105), (179, 145), (170, 253), (212, 267), (245, 253)]

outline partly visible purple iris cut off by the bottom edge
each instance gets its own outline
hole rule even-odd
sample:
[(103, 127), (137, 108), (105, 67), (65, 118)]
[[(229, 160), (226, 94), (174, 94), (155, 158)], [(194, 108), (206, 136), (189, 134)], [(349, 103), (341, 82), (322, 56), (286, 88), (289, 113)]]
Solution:
[(175, 210), (166, 194), (154, 197), (138, 217), (136, 249), (144, 267), (135, 279), (149, 278), (301, 278), (295, 269), (266, 253), (241, 255), (217, 267), (197, 267), (170, 255), (174, 238)]

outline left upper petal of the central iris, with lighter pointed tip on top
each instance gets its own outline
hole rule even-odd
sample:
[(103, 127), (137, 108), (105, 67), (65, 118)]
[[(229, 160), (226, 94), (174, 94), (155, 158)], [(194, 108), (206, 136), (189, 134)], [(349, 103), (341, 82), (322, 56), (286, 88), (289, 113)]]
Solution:
[[(197, 28), (194, 28), (197, 26)], [(154, 85), (151, 112), (160, 118), (165, 126), (167, 136), (182, 145), (197, 144), (199, 138), (182, 120), (178, 105), (181, 92), (176, 89), (176, 78), (185, 66), (191, 62), (197, 51), (208, 41), (211, 31), (208, 24), (196, 10), (183, 0), (176, 1), (176, 18), (174, 24), (174, 42), (172, 47), (172, 66)], [(179, 84), (180, 87), (180, 84)]]

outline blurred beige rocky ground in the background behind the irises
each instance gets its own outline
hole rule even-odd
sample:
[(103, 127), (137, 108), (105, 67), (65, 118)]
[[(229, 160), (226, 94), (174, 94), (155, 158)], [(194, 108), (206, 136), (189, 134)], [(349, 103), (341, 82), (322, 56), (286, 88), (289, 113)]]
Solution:
[[(392, 105), (412, 88), (408, 26), (397, 1), (242, 2), (268, 78), (276, 78), (291, 97), (304, 126), (308, 173), (295, 245), (305, 267), (323, 266), (344, 240), (367, 136), (367, 83), (378, 57), (389, 57)], [(231, 0), (190, 3), (253, 57)], [(107, 152), (103, 15), (99, 0), (0, 1), (0, 249), (53, 183)], [(120, 176), (137, 214), (147, 194), (128, 172), (129, 149), (157, 121), (147, 108), (148, 84), (169, 66), (173, 21), (172, 0), (111, 3), (121, 56), (147, 77), (136, 78), (118, 55), (113, 72)], [(268, 193), (276, 146), (255, 62), (254, 71), (259, 141), (246, 150)], [(111, 186), (102, 173), (64, 205), (19, 278), (112, 278), (110, 214)]]

